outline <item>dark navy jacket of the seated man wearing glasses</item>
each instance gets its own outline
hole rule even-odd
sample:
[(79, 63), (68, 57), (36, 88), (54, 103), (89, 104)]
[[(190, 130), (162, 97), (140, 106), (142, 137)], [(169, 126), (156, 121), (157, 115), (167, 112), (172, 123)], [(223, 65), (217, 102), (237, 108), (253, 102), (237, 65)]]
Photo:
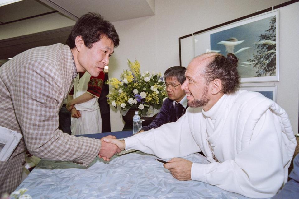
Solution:
[(164, 100), (156, 118), (150, 123), (150, 125), (142, 127), (141, 130), (148, 131), (169, 122), (176, 122), (183, 114), (185, 114), (185, 112), (186, 109), (182, 104), (178, 103), (175, 104), (175, 107), (173, 107), (173, 100), (167, 98)]

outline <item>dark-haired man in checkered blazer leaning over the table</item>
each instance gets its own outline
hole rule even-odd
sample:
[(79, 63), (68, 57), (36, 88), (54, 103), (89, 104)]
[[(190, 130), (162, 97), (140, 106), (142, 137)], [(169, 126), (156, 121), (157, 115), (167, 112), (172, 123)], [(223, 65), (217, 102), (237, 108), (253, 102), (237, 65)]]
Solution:
[(66, 43), (29, 49), (0, 67), (0, 124), (23, 135), (10, 159), (0, 162), (0, 195), (21, 183), (26, 149), (39, 158), (83, 166), (97, 155), (109, 160), (120, 152), (103, 140), (58, 129), (73, 79), (84, 71), (99, 76), (119, 45), (118, 34), (109, 21), (90, 12), (78, 19)]

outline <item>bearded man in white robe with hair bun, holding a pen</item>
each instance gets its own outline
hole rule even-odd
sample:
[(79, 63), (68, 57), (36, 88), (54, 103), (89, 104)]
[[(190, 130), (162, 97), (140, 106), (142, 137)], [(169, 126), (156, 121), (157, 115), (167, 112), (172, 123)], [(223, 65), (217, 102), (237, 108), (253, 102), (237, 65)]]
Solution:
[[(164, 167), (178, 180), (198, 180), (246, 197), (272, 197), (287, 182), (296, 139), (278, 104), (237, 90), (237, 62), (233, 54), (194, 58), (181, 86), (189, 105), (183, 117), (121, 141), (104, 141), (172, 158)], [(199, 151), (210, 164), (175, 158)]]

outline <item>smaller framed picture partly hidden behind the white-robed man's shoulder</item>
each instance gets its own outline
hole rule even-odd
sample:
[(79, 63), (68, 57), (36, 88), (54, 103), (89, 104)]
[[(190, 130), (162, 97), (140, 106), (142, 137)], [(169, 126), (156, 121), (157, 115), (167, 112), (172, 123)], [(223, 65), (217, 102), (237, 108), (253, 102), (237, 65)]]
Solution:
[(255, 91), (277, 102), (277, 86), (240, 86), (240, 90)]

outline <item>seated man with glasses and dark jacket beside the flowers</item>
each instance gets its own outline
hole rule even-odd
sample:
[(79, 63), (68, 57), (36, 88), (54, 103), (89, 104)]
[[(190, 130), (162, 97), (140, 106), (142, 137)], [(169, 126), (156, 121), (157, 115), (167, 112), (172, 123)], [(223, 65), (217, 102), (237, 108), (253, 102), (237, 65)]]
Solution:
[(164, 100), (163, 105), (157, 117), (148, 126), (141, 128), (140, 132), (148, 131), (152, 128), (158, 128), (169, 122), (176, 122), (187, 109), (187, 98), (181, 85), (186, 80), (186, 68), (182, 66), (173, 66), (164, 73), (165, 87), (168, 98)]

